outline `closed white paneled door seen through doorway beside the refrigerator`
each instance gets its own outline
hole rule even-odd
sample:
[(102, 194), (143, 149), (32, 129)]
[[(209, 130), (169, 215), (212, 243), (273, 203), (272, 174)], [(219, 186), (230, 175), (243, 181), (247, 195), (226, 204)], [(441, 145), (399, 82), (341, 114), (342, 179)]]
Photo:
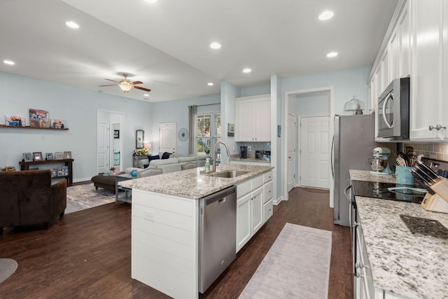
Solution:
[(330, 117), (303, 117), (300, 123), (300, 185), (330, 188)]

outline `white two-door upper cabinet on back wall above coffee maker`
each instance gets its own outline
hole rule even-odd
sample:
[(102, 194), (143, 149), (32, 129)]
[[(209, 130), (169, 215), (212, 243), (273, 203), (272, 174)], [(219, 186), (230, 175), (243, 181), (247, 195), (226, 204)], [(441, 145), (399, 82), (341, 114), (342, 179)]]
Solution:
[(236, 104), (236, 141), (271, 141), (270, 95), (240, 97)]

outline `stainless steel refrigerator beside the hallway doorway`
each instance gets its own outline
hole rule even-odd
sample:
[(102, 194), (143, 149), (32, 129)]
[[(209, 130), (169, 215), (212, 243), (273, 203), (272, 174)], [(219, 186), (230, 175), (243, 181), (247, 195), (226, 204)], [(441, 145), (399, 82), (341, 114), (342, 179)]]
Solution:
[(345, 189), (350, 184), (349, 169), (370, 170), (367, 159), (372, 158), (374, 115), (335, 116), (332, 170), (335, 179), (335, 224), (350, 226), (350, 200)]

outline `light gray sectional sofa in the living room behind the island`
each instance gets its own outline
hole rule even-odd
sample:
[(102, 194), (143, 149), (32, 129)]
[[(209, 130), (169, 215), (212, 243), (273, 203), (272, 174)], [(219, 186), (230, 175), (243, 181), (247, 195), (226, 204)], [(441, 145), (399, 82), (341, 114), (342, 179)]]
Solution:
[[(159, 156), (162, 157), (163, 153)], [(146, 176), (144, 172), (150, 174), (151, 169), (161, 169), (162, 173), (166, 174), (168, 172), (179, 172), (183, 169), (190, 169), (195, 167), (203, 167), (205, 165), (205, 160), (210, 158), (209, 155), (179, 155), (171, 154), (167, 159), (141, 159), (139, 161), (139, 167), (129, 167), (125, 170), (126, 173), (132, 172), (132, 170), (137, 170), (137, 176)]]

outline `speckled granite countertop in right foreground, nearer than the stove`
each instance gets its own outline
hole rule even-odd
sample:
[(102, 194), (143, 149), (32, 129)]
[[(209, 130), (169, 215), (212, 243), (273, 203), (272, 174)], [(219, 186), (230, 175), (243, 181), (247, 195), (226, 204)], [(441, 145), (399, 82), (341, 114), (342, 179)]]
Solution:
[(375, 288), (409, 298), (448, 298), (448, 239), (412, 234), (400, 218), (430, 218), (448, 228), (448, 214), (370, 197), (356, 197), (356, 207)]

